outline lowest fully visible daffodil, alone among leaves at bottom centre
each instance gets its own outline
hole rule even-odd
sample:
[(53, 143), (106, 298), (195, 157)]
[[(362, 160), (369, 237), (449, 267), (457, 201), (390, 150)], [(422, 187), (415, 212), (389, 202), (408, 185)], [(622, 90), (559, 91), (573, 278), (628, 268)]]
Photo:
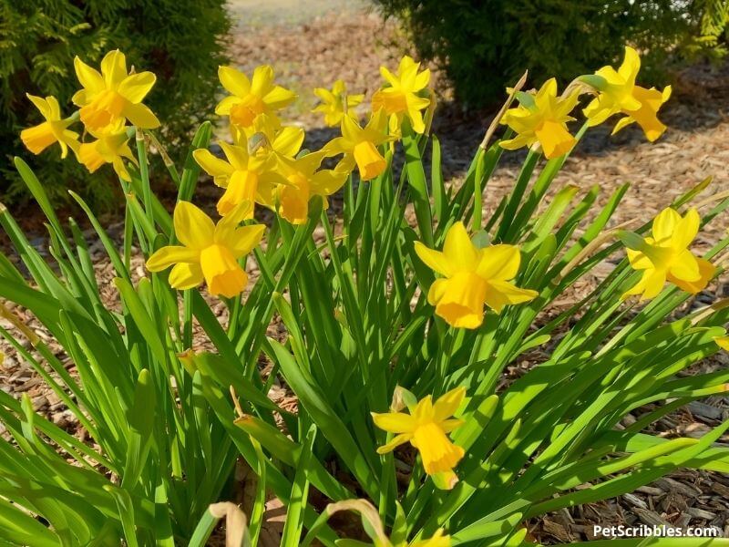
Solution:
[(453, 469), (463, 458), (464, 450), (448, 439), (448, 433), (464, 423), (461, 419), (451, 418), (464, 397), (466, 389), (456, 387), (438, 397), (435, 404), (429, 395), (421, 399), (415, 408), (409, 408), (409, 414), (373, 412), (375, 426), (388, 433), (395, 433), (395, 437), (378, 448), (377, 453), (386, 454), (409, 442), (420, 453), (423, 469), (428, 475), (453, 473)]

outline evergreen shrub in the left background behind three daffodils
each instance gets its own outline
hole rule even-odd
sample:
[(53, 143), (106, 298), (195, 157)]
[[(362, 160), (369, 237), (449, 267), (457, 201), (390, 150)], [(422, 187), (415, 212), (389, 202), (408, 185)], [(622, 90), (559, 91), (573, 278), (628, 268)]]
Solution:
[[(164, 120), (163, 141), (175, 157), (181, 143), (190, 141), (190, 130), (214, 107), (217, 68), (227, 62), (223, 38), (230, 27), (225, 0), (0, 0), (3, 201), (27, 195), (11, 162), (24, 150), (19, 131), (41, 121), (26, 92), (55, 95), (69, 114), (77, 88), (73, 57), (96, 65), (118, 47), (130, 66), (157, 75), (147, 103)], [(76, 161), (61, 162), (58, 156), (57, 150), (39, 157), (24, 154), (52, 199), (67, 199), (67, 188), (97, 205), (113, 195), (116, 184), (89, 177)]]

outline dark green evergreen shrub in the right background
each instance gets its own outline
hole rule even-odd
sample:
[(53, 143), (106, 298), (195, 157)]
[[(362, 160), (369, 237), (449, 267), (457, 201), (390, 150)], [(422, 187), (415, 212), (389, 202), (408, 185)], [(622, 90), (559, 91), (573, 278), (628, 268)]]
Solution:
[(570, 81), (642, 52), (642, 77), (667, 80), (674, 63), (726, 53), (727, 0), (375, 0), (396, 16), (421, 57), (445, 68), (468, 106), (499, 102), (503, 83)]

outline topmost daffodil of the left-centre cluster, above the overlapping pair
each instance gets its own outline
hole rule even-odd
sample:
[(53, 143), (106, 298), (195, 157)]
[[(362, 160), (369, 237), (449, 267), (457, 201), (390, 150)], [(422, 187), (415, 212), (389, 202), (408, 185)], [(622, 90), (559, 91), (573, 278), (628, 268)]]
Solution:
[(219, 67), (218, 77), (231, 95), (221, 100), (215, 113), (230, 116), (231, 124), (239, 128), (251, 127), (261, 114), (275, 119), (275, 112), (296, 98), (293, 91), (273, 84), (273, 68), (269, 65), (256, 67), (252, 79), (233, 67)]

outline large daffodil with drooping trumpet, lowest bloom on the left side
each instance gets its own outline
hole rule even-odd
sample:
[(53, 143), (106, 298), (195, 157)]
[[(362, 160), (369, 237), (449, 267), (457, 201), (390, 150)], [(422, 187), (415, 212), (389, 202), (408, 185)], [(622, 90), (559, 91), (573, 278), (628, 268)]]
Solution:
[(180, 291), (204, 281), (210, 294), (241, 294), (248, 275), (238, 261), (258, 245), (265, 229), (262, 224), (239, 226), (251, 209), (251, 202), (241, 203), (216, 225), (189, 201), (179, 201), (173, 223), (182, 244), (159, 249), (149, 257), (147, 269), (160, 272), (174, 264), (169, 284)]

